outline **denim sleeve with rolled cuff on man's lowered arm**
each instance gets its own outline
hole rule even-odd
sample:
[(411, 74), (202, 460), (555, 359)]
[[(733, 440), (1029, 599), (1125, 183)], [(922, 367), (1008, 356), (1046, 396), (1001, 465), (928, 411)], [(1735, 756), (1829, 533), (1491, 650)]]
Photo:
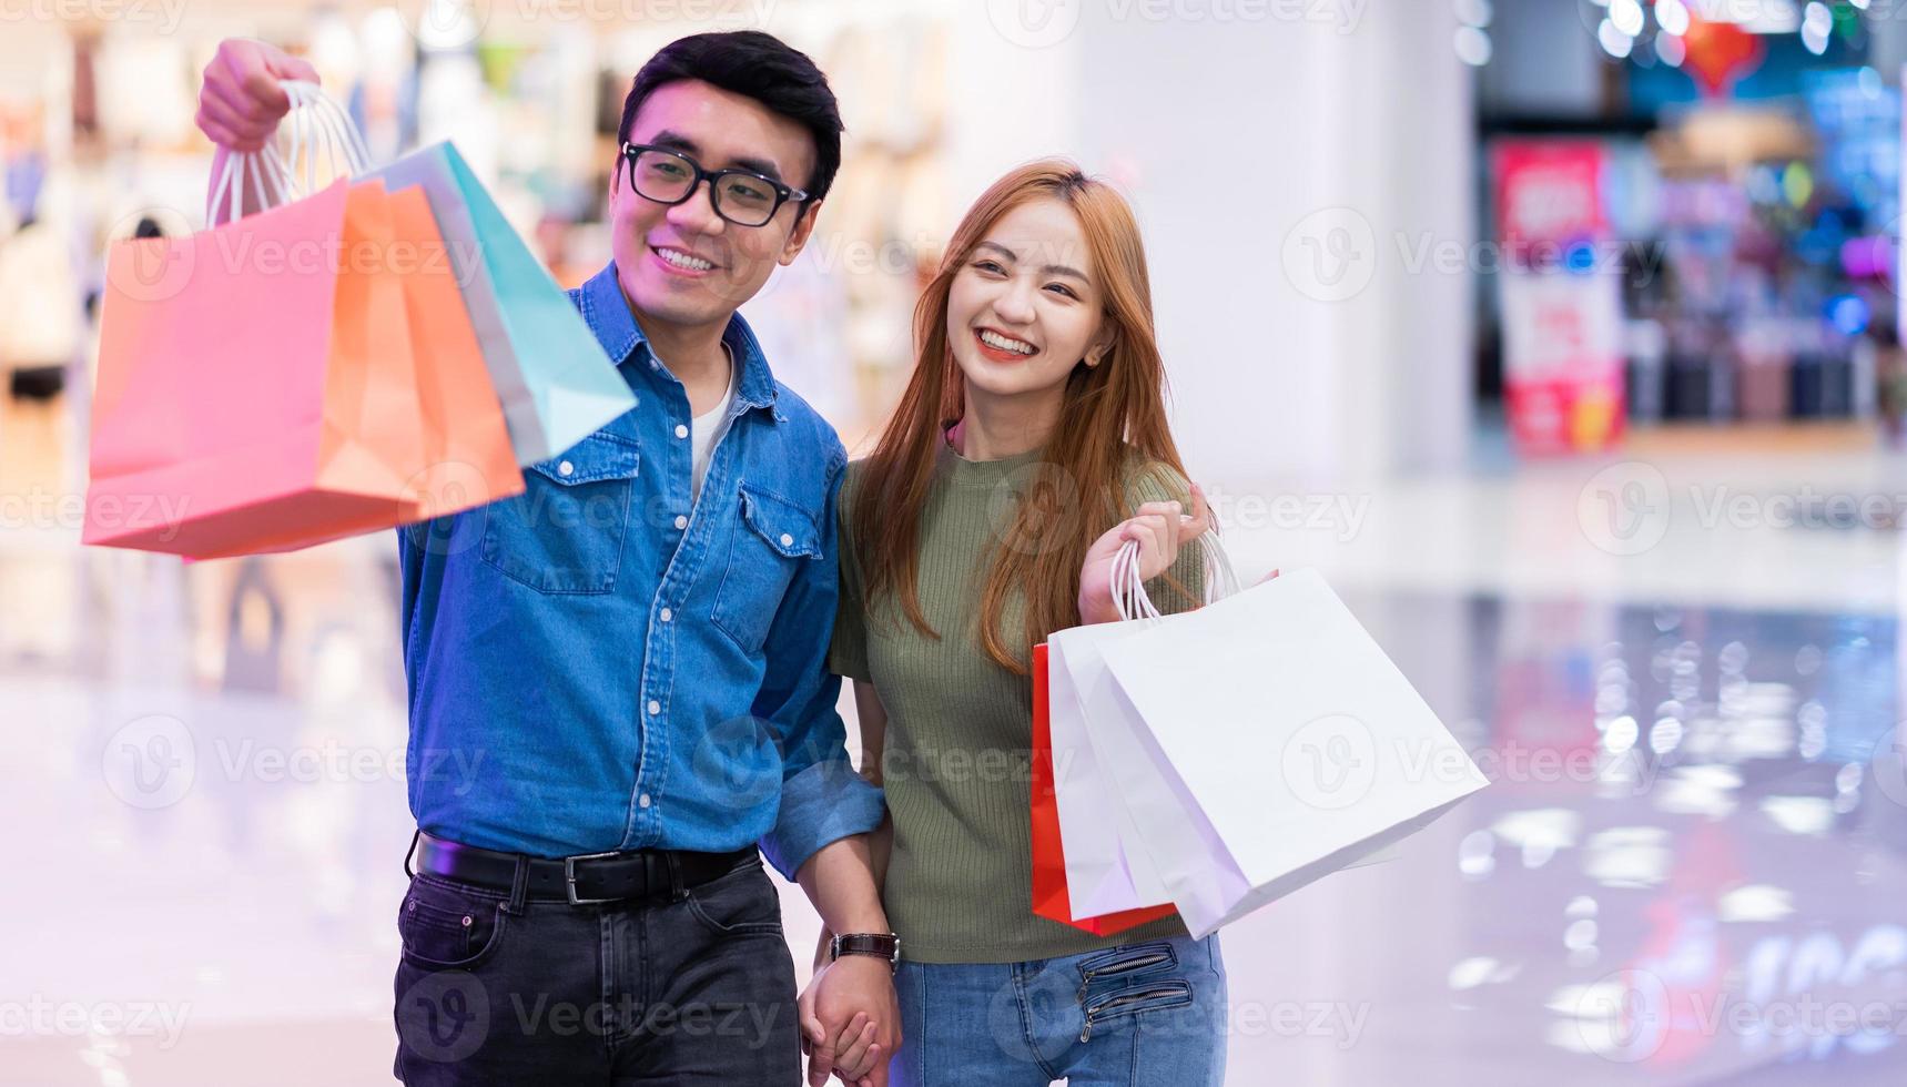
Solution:
[(835, 711), (841, 679), (828, 671), (839, 603), (837, 517), (847, 452), (835, 446), (822, 507), (822, 555), (805, 561), (769, 627), (769, 667), (755, 700), (782, 749), (782, 803), (761, 852), (786, 879), (824, 845), (881, 826), (887, 801), (847, 755), (847, 727)]

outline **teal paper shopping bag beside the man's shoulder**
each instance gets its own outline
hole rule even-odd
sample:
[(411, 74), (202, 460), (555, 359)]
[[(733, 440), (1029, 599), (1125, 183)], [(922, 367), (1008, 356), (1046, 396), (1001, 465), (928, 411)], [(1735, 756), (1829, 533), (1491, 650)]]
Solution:
[(456, 147), (433, 143), (370, 175), (429, 196), (519, 465), (557, 456), (635, 406), (595, 334)]

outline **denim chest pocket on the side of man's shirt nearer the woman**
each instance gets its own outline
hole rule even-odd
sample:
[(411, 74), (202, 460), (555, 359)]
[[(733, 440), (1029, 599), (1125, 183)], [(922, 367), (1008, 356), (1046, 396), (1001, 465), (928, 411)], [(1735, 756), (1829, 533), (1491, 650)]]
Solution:
[(761, 650), (788, 584), (822, 557), (820, 530), (805, 507), (744, 484), (728, 563), (715, 589), (717, 627), (746, 652)]

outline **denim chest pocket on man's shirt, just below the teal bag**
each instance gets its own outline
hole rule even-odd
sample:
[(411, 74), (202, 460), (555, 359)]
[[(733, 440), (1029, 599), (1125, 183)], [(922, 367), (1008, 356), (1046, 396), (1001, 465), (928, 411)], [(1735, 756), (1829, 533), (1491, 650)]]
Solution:
[(540, 593), (616, 589), (641, 456), (595, 433), (523, 473), (523, 494), (486, 509), (482, 561)]

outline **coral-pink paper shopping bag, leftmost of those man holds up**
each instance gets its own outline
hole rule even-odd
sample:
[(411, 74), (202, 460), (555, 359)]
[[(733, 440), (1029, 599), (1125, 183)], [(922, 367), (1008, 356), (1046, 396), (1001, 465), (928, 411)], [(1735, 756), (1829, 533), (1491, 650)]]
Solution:
[[(418, 355), (381, 181), (107, 267), (82, 542), (284, 551), (418, 517)], [(154, 275), (156, 269), (156, 275)]]

